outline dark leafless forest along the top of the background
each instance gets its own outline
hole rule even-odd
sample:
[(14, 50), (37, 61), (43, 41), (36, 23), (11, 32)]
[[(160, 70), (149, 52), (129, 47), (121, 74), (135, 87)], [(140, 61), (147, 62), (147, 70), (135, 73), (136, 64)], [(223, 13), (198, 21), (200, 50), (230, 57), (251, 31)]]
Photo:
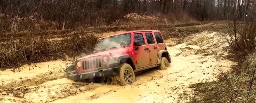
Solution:
[[(50, 26), (109, 26), (130, 13), (155, 15), (168, 22), (193, 18), (198, 21), (233, 19), (243, 21), (254, 11), (254, 0), (1, 0), (0, 30), (10, 31), (14, 20), (29, 18), (53, 22)], [(234, 15), (235, 14), (235, 15)], [(22, 21), (20, 21), (22, 22)], [(36, 21), (35, 21), (36, 22)], [(28, 29), (33, 24), (24, 24)]]

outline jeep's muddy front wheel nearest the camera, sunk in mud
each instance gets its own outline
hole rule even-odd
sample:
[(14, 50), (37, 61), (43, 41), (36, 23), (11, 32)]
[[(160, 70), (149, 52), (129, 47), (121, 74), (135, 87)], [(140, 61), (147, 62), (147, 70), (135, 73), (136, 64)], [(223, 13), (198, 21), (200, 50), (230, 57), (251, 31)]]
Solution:
[(128, 63), (123, 63), (120, 65), (119, 82), (121, 85), (135, 82), (135, 74), (133, 68)]

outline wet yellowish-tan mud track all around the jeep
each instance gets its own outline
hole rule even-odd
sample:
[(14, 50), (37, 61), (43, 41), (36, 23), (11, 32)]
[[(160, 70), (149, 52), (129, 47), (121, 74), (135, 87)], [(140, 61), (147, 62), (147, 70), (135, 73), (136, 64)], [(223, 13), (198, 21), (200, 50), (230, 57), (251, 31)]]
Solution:
[(228, 71), (234, 64), (225, 59), (227, 44), (218, 33), (165, 42), (171, 67), (146, 70), (127, 86), (69, 80), (64, 68), (70, 61), (62, 60), (25, 65), (15, 73), (0, 71), (0, 103), (183, 103), (192, 96), (190, 84), (216, 80), (220, 71)]

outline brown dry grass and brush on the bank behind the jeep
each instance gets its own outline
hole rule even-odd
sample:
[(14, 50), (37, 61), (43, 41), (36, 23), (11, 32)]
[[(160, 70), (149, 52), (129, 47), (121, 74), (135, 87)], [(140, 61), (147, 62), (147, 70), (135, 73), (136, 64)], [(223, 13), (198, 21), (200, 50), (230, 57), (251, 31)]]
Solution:
[[(112, 23), (113, 25), (109, 26), (104, 25), (105, 20), (99, 18), (95, 23), (101, 25), (100, 27), (88, 28), (85, 25), (65, 29), (64, 24), (44, 20), (37, 14), (23, 18), (11, 18), (8, 15), (1, 14), (0, 68), (15, 68), (26, 63), (64, 59), (66, 55), (73, 57), (84, 53), (91, 53), (97, 38), (101, 37), (101, 35), (95, 35), (95, 33), (118, 30), (175, 28), (176, 26), (200, 24), (200, 22), (194, 21), (186, 14), (180, 15), (184, 16), (182, 17), (184, 22), (181, 22), (182, 19), (178, 17), (162, 14), (150, 16), (128, 14), (123, 17), (124, 19), (117, 20), (115, 23)], [(177, 24), (171, 23), (174, 21)], [(178, 32), (183, 33), (184, 31), (180, 30)], [(199, 32), (199, 30), (195, 32)], [(187, 33), (194, 32), (189, 31)], [(168, 35), (166, 37), (172, 37), (175, 34)]]

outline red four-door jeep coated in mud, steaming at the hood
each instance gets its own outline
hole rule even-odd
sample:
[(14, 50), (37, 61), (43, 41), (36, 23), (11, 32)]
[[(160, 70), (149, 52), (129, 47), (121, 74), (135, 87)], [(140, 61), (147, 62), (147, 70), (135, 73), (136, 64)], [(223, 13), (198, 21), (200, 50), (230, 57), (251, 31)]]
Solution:
[(122, 85), (135, 81), (134, 73), (166, 69), (171, 57), (159, 30), (137, 30), (97, 40), (94, 54), (79, 58), (67, 68), (71, 80), (118, 75)]

